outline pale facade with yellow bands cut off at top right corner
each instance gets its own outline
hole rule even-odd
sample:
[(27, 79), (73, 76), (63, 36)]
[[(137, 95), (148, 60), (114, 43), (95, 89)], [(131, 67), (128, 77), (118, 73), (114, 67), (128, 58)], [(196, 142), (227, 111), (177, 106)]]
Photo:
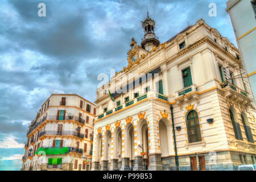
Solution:
[[(241, 52), (241, 59), (249, 76), (253, 93), (256, 92), (256, 1), (229, 0), (226, 2), (237, 45)], [(250, 88), (248, 88), (250, 92)], [(255, 102), (255, 99), (254, 99)]]

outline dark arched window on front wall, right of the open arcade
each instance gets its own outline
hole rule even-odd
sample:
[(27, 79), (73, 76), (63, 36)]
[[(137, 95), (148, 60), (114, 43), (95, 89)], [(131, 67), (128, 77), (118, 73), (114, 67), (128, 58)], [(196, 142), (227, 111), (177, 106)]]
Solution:
[(202, 140), (199, 119), (195, 110), (190, 111), (187, 115), (187, 128), (189, 143), (200, 142)]

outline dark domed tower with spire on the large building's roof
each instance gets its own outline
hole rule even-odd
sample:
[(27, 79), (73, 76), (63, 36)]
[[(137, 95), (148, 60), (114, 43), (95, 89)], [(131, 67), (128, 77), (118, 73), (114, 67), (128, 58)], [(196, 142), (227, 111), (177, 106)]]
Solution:
[(145, 49), (146, 51), (151, 51), (152, 48), (158, 47), (160, 42), (158, 40), (158, 37), (155, 36), (155, 22), (148, 16), (148, 10), (147, 10), (147, 18), (142, 22), (142, 27), (144, 30), (144, 38), (141, 42), (141, 47)]

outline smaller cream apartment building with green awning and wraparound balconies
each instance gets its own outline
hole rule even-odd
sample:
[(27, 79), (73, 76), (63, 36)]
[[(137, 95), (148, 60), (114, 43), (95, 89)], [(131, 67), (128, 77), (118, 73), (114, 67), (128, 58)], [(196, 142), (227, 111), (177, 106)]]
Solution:
[(89, 170), (95, 114), (77, 94), (51, 94), (29, 127), (22, 170)]

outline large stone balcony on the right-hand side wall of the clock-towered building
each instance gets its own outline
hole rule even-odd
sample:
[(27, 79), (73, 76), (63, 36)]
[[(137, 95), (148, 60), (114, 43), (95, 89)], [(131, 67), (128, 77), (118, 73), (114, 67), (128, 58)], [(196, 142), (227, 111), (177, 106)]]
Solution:
[(233, 85), (228, 81), (223, 82), (221, 87), (225, 92), (225, 98), (227, 100), (240, 104), (243, 107), (253, 106), (251, 105), (249, 93), (247, 93), (245, 90), (238, 88), (236, 85)]

